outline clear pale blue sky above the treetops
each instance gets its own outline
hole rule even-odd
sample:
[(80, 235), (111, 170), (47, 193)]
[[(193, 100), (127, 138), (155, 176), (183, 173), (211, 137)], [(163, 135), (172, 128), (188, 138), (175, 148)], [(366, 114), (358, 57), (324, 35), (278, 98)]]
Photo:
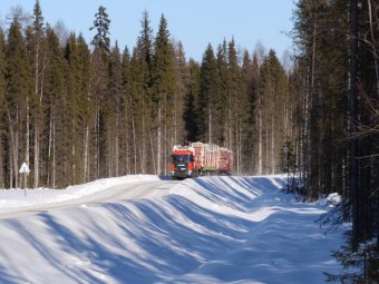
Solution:
[[(208, 43), (214, 48), (234, 37), (239, 48), (253, 51), (256, 42), (274, 49), (281, 58), (291, 49), (291, 39), (284, 35), (292, 28), (293, 0), (40, 0), (45, 20), (55, 26), (61, 20), (68, 30), (81, 32), (87, 41), (94, 37), (89, 31), (95, 13), (101, 4), (110, 19), (110, 39), (118, 40), (120, 49), (135, 46), (140, 31), (144, 10), (149, 13), (154, 35), (161, 14), (168, 21), (168, 30), (181, 40), (186, 57), (201, 61)], [(0, 0), (0, 19), (10, 8), (21, 6), (32, 13), (35, 0)]]

